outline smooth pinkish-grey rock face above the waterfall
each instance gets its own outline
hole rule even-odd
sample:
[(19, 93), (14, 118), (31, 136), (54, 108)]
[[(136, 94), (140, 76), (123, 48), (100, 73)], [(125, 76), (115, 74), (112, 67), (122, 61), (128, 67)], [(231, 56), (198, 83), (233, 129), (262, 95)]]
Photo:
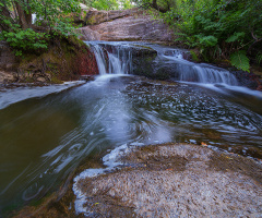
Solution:
[[(86, 12), (84, 24), (80, 28), (82, 40), (133, 40), (152, 43), (172, 43), (174, 34), (162, 21), (143, 14), (139, 9), (123, 11), (95, 11)], [(91, 32), (92, 29), (93, 32)]]

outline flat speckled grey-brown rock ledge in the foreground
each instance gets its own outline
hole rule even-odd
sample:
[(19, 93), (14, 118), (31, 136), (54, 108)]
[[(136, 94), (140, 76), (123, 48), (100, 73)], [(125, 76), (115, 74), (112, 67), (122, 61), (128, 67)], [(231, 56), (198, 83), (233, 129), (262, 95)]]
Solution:
[(176, 144), (132, 148), (120, 159), (121, 169), (78, 181), (85, 216), (262, 215), (262, 167), (253, 159)]

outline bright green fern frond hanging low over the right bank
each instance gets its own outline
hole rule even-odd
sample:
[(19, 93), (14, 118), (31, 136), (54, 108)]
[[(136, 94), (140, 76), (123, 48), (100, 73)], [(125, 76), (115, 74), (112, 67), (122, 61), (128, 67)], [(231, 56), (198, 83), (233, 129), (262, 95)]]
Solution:
[(246, 56), (245, 50), (239, 50), (239, 51), (236, 51), (235, 53), (233, 53), (230, 56), (230, 62), (237, 69), (249, 72), (249, 68), (250, 68), (249, 59)]

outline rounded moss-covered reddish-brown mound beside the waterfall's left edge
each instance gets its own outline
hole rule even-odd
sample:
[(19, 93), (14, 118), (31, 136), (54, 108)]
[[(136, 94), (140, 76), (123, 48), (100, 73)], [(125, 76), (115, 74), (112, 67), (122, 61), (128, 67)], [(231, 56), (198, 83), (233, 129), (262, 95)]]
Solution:
[(48, 51), (41, 55), (26, 55), (21, 59), (17, 69), (19, 72), (28, 72), (32, 75), (40, 73), (51, 83), (79, 80), (81, 74), (98, 73), (95, 57), (87, 45), (73, 36), (55, 38), (50, 41)]

